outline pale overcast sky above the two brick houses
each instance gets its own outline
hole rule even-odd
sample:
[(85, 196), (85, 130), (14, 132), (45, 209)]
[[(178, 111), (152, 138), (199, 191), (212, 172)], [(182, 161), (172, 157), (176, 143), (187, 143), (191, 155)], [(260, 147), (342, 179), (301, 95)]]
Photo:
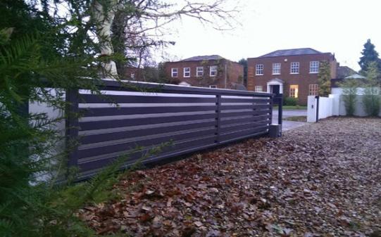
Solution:
[(168, 39), (176, 44), (166, 51), (177, 59), (218, 54), (239, 60), (309, 47), (335, 53), (341, 65), (355, 70), (366, 39), (381, 53), (379, 0), (246, 0), (237, 20), (235, 30), (220, 32), (183, 18), (173, 24), (177, 30)]

